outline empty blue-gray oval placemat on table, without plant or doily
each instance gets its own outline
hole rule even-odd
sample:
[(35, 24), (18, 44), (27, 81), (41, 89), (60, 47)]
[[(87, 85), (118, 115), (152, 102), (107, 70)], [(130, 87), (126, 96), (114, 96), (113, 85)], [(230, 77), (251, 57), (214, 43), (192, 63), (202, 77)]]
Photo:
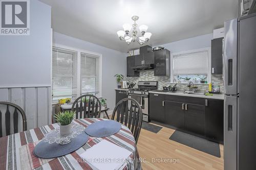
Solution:
[(102, 120), (89, 125), (86, 133), (93, 137), (106, 137), (114, 135), (121, 129), (121, 124), (115, 120)]

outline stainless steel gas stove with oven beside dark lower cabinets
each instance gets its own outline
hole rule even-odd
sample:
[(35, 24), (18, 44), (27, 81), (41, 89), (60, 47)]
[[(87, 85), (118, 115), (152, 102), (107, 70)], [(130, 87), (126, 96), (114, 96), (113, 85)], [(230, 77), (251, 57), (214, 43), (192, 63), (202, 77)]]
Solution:
[(148, 119), (148, 91), (157, 90), (157, 81), (139, 81), (138, 88), (128, 91), (129, 98), (135, 99), (141, 106), (143, 121), (149, 122)]

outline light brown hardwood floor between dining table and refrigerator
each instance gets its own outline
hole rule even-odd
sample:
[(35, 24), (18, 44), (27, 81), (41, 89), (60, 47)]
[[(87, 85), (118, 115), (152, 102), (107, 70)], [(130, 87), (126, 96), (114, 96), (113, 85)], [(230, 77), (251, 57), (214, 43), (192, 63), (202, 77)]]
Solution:
[[(159, 125), (158, 125), (159, 126)], [(221, 158), (187, 147), (170, 140), (175, 130), (163, 127), (158, 133), (141, 129), (137, 143), (143, 169), (223, 169), (223, 145), (220, 144)], [(152, 161), (153, 158), (153, 161)], [(169, 159), (169, 163), (154, 162), (154, 158)], [(179, 159), (177, 163), (170, 163)], [(160, 161), (160, 160), (158, 160)]]

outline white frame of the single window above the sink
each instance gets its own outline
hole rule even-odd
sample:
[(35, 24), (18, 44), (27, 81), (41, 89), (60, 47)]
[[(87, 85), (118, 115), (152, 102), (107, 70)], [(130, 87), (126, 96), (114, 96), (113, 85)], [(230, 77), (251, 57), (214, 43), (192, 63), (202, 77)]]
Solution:
[[(184, 52), (178, 52), (178, 53), (171, 53), (171, 55), (170, 55), (170, 83), (177, 83), (177, 82), (174, 82), (173, 57), (177, 56), (177, 55), (184, 55), (184, 54), (188, 54), (188, 53), (197, 53), (197, 52), (202, 52), (202, 51), (208, 52), (207, 84), (211, 83), (211, 48), (210, 47), (200, 48), (200, 49), (196, 49), (196, 50), (189, 50), (189, 51), (184, 51)], [(187, 83), (177, 83), (177, 84), (187, 84)], [(204, 84), (204, 83), (194, 83), (194, 84)]]

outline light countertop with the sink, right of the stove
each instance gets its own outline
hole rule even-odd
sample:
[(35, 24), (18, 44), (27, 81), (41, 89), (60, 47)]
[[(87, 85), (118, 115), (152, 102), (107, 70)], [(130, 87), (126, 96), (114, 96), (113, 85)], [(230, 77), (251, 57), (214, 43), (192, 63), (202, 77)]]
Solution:
[(196, 98), (224, 100), (224, 94), (214, 94), (214, 95), (204, 95), (203, 93), (187, 94), (187, 93), (183, 93), (181, 91), (177, 91), (177, 92), (150, 91), (149, 93), (167, 94), (167, 95), (181, 95), (181, 96), (196, 97)]

